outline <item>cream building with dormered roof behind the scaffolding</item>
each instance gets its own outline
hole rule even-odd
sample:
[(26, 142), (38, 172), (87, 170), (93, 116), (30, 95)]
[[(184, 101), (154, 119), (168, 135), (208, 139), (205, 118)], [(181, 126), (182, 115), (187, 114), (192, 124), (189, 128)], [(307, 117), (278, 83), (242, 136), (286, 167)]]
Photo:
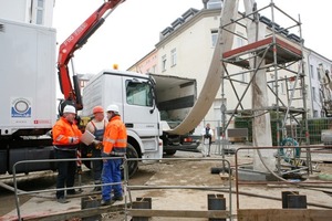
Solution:
[[(217, 1), (212, 1), (216, 3)], [(218, 27), (220, 23), (220, 6), (222, 6), (219, 0), (219, 7), (208, 8), (207, 6), (203, 10), (188, 9), (181, 17), (176, 18), (172, 25), (165, 28), (160, 32), (160, 40), (156, 43), (154, 50), (154, 56), (157, 56), (157, 60), (154, 60), (156, 63), (156, 73), (164, 75), (176, 75), (180, 77), (190, 77), (197, 80), (197, 92), (200, 93), (205, 78), (207, 76), (212, 52), (216, 45), (216, 40), (218, 35)], [(239, 17), (241, 14), (239, 13)], [(239, 48), (248, 44), (247, 31), (246, 31), (246, 21), (241, 20), (240, 23), (236, 25), (235, 39), (232, 48)], [(278, 29), (282, 29), (279, 24), (276, 23)], [(268, 32), (271, 33), (271, 29), (268, 29)], [(290, 41), (300, 41), (299, 36), (293, 33), (283, 32), (286, 36), (290, 36)], [(305, 104), (308, 109), (308, 117), (319, 117), (321, 116), (321, 106), (320, 106), (320, 78), (315, 74), (317, 78), (312, 78), (312, 72), (310, 69), (317, 73), (318, 65), (323, 63), (324, 67), (331, 69), (332, 61), (325, 59), (324, 56), (313, 52), (310, 49), (303, 48), (303, 62), (295, 62), (289, 64), (287, 69), (291, 72), (279, 70), (278, 75), (272, 69), (267, 70), (267, 81), (270, 86), (269, 93), (269, 105), (276, 105), (276, 88), (278, 86), (278, 97), (284, 101), (286, 105), (292, 107), (303, 107), (303, 99), (299, 97), (303, 95), (307, 96)], [(135, 67), (144, 64), (147, 60), (151, 60), (151, 56), (147, 56), (139, 60), (128, 70), (136, 71)], [(303, 64), (303, 70), (300, 67)], [(220, 62), (221, 65), (221, 62)], [(228, 65), (229, 73), (241, 73), (243, 69)], [(299, 83), (295, 84), (294, 78), (291, 77), (298, 72), (304, 74), (304, 88), (303, 91), (295, 87), (300, 87)], [(278, 80), (276, 81), (276, 77)], [(290, 77), (290, 78), (289, 78)], [(243, 94), (246, 87), (251, 78), (250, 73), (242, 73), (235, 76), (238, 81), (236, 85), (236, 91), (238, 94)], [(278, 82), (278, 85), (276, 85)], [(227, 109), (232, 109), (237, 105), (237, 98), (234, 94), (229, 92), (232, 91), (229, 82), (225, 81), (225, 98), (222, 99), (226, 103)], [(293, 91), (293, 93), (292, 93)], [(291, 95), (293, 98), (291, 99)], [(245, 94), (241, 104), (246, 108), (251, 107), (251, 90)], [(210, 110), (205, 117), (205, 120), (215, 122), (214, 126), (217, 127), (217, 122), (221, 120), (221, 91), (218, 92), (215, 97), (215, 102), (210, 107)], [(203, 126), (201, 124), (200, 126)]]

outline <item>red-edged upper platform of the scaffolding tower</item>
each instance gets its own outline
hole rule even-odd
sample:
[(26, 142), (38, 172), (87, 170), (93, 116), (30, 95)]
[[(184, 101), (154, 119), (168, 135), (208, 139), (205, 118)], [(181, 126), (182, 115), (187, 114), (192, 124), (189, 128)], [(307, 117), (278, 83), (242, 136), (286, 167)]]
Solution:
[[(222, 54), (224, 62), (231, 63), (243, 69), (249, 69), (249, 59), (242, 59), (241, 56), (250, 57), (248, 56), (249, 53), (256, 53), (258, 56), (264, 57), (266, 64), (271, 64), (274, 62), (273, 44), (273, 36), (269, 36), (245, 46), (234, 49)], [(276, 48), (278, 64), (295, 62), (302, 59), (301, 45), (292, 42), (291, 40), (282, 36), (276, 36)]]

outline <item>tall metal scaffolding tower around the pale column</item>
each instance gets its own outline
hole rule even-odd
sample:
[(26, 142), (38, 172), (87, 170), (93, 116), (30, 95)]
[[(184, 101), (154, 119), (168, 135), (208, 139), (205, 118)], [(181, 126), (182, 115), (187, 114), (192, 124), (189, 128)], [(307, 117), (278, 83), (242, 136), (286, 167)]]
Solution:
[[(271, 19), (261, 15), (267, 9), (270, 9)], [(290, 25), (281, 28), (276, 23), (276, 13), (287, 18)], [(246, 29), (243, 20), (251, 20), (257, 24), (259, 22), (264, 23), (267, 25), (267, 34), (261, 40), (257, 39), (256, 42), (222, 53), (221, 65), (224, 66), (225, 74), (221, 76), (221, 119), (224, 135), (235, 117), (253, 118), (262, 114), (274, 113), (277, 119), (277, 146), (309, 146), (307, 86), (304, 82), (303, 39), (300, 17), (299, 20), (293, 19), (271, 1), (269, 6), (261, 9), (257, 9), (255, 4), (252, 13), (241, 14), (237, 20), (230, 21), (220, 28), (221, 32), (230, 32), (228, 27), (234, 23)], [(290, 33), (290, 30), (293, 29), (299, 30), (300, 36)], [(235, 32), (231, 33), (248, 42), (247, 38)], [(255, 66), (250, 66), (250, 62)], [(226, 64), (240, 69), (231, 73)], [(271, 81), (267, 81), (267, 85), (269, 93), (272, 95), (269, 97), (274, 96), (274, 103), (271, 105), (269, 103), (269, 106), (261, 109), (246, 109), (242, 104), (245, 96), (248, 94), (249, 88), (252, 86), (252, 81), (260, 70), (264, 70), (267, 74), (270, 73), (271, 77), (273, 76)], [(280, 77), (280, 72), (284, 73), (284, 76)], [(251, 73), (248, 82), (239, 80), (240, 75), (247, 73)], [(231, 90), (227, 90), (227, 94), (225, 90), (226, 82), (229, 82), (231, 87)], [(236, 84), (246, 85), (242, 94), (240, 94), (239, 87)], [(281, 95), (280, 90), (284, 90), (284, 87), (287, 93)], [(234, 109), (227, 110), (224, 102), (226, 101), (226, 96), (229, 97), (231, 95), (229, 94), (230, 91), (234, 92), (237, 104)], [(297, 107), (293, 106), (294, 101), (298, 101)], [(301, 102), (300, 105), (299, 101)], [(230, 117), (226, 119), (226, 115)], [(293, 148), (290, 151), (292, 151), (290, 155), (300, 158), (298, 156), (300, 152), (294, 151)], [(311, 168), (309, 166), (311, 161), (309, 148), (307, 152), (307, 170), (311, 171), (309, 169)], [(280, 167), (278, 170), (280, 170)]]

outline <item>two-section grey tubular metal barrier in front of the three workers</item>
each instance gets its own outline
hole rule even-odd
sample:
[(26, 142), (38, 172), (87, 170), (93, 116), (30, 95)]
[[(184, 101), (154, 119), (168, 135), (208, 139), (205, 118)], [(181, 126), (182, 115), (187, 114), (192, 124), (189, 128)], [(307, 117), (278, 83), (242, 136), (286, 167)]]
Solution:
[[(197, 211), (195, 214), (198, 217), (211, 217), (215, 218), (215, 215), (219, 215), (218, 218), (229, 218), (230, 220), (232, 219), (232, 213), (231, 213), (231, 173), (228, 173), (228, 186), (132, 186), (128, 182), (128, 168), (127, 168), (127, 164), (128, 161), (178, 161), (178, 160), (191, 160), (191, 161), (203, 161), (203, 160), (207, 160), (207, 161), (218, 161), (221, 162), (225, 166), (227, 166), (228, 168), (230, 168), (230, 164), (228, 160), (225, 159), (220, 159), (220, 158), (164, 158), (164, 159), (142, 159), (142, 158), (136, 158), (136, 159), (126, 159), (124, 157), (107, 157), (107, 158), (80, 158), (81, 161), (85, 161), (85, 160), (101, 160), (101, 159), (118, 159), (122, 158), (124, 160), (123, 167), (124, 167), (124, 180), (123, 182), (121, 182), (123, 185), (123, 190), (124, 190), (124, 199), (125, 199), (125, 203), (124, 203), (124, 213), (125, 213), (125, 220), (127, 220), (128, 214), (133, 213), (133, 212), (137, 212), (137, 210), (133, 210), (132, 208), (129, 208), (129, 206), (133, 203), (132, 200), (132, 194), (131, 191), (134, 190), (143, 190), (143, 189), (196, 189), (196, 190), (214, 190), (214, 191), (219, 191), (219, 190), (228, 190), (229, 192), (229, 210), (227, 211)], [(92, 187), (102, 187), (102, 186), (113, 186), (113, 185), (118, 185), (118, 182), (114, 182), (114, 183), (103, 183), (103, 185), (83, 185), (83, 186), (75, 186), (72, 188), (61, 188), (61, 189), (46, 189), (46, 190), (37, 190), (37, 191), (19, 191), (18, 189), (18, 180), (17, 180), (17, 173), (15, 173), (15, 168), (19, 165), (22, 164), (40, 164), (40, 162), (60, 162), (60, 161), (76, 161), (76, 158), (73, 159), (45, 159), (45, 160), (23, 160), (23, 161), (18, 161), (13, 165), (13, 185), (14, 185), (14, 196), (15, 196), (15, 207), (17, 207), (17, 213), (18, 213), (18, 220), (21, 221), (23, 220), (21, 217), (21, 210), (20, 210), (20, 196), (23, 194), (33, 194), (33, 193), (43, 193), (43, 192), (53, 192), (56, 190), (73, 190), (73, 189), (77, 189), (77, 188), (82, 188), (82, 189), (86, 189), (86, 188), (92, 188)], [(116, 208), (120, 209), (120, 208)], [(105, 212), (110, 212), (112, 210), (110, 210), (108, 207), (102, 207), (102, 208), (90, 208), (90, 209), (84, 209), (84, 211), (80, 210), (80, 211), (73, 211), (70, 212), (71, 214), (58, 214), (58, 215), (50, 215), (50, 217), (42, 217), (42, 218), (35, 218), (35, 220), (65, 220), (69, 218), (72, 218), (71, 215), (74, 217), (81, 217), (83, 218), (84, 214), (89, 215), (95, 215), (95, 214), (100, 214), (100, 213), (105, 213)], [(163, 214), (163, 217), (169, 217), (169, 213), (166, 210), (159, 210), (160, 214)], [(188, 212), (188, 211), (187, 211)], [(181, 215), (184, 213), (173, 213), (173, 215)], [(191, 214), (193, 215), (193, 214)], [(221, 217), (220, 217), (221, 215)], [(30, 220), (33, 220), (33, 218), (31, 218)]]

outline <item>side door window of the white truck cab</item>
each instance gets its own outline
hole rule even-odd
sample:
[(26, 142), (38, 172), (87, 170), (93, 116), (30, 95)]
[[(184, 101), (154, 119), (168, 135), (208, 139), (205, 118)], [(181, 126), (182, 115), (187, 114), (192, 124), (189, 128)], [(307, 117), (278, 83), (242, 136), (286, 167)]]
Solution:
[(148, 83), (127, 81), (126, 85), (127, 104), (153, 106), (152, 88)]

